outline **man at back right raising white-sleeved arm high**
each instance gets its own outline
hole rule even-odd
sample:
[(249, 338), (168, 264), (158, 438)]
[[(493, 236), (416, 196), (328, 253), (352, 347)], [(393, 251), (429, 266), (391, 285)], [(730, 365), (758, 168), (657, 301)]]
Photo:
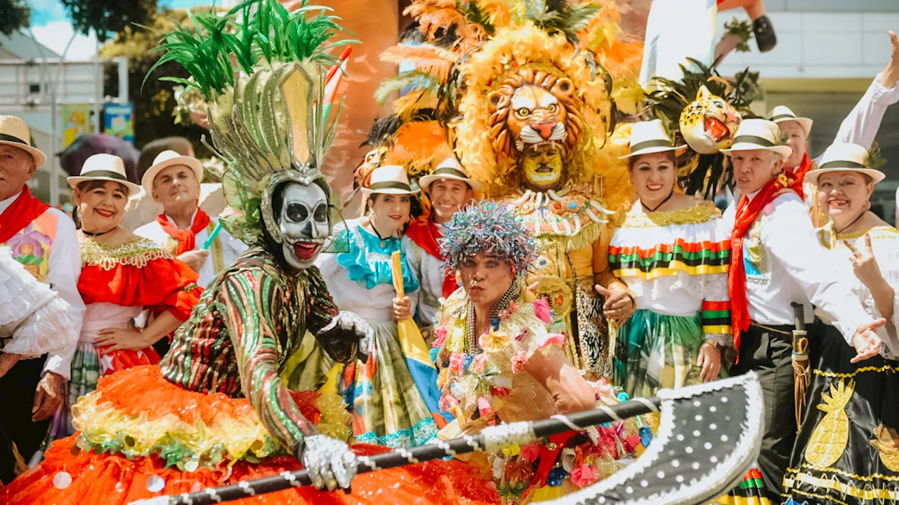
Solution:
[[(892, 56), (886, 62), (884, 70), (874, 78), (868, 91), (862, 95), (855, 108), (850, 111), (846, 119), (840, 125), (834, 143), (850, 142), (858, 144), (866, 149), (870, 148), (877, 137), (877, 130), (884, 119), (886, 108), (895, 102), (899, 102), (899, 37), (895, 32), (889, 32), (892, 44)], [(770, 111), (770, 120), (778, 124), (783, 134), (784, 142), (792, 149), (790, 155), (784, 159), (784, 168), (802, 180), (809, 170), (812, 170), (813, 162), (808, 157), (808, 137), (812, 132), (812, 120), (803, 118), (784, 105), (779, 105)]]

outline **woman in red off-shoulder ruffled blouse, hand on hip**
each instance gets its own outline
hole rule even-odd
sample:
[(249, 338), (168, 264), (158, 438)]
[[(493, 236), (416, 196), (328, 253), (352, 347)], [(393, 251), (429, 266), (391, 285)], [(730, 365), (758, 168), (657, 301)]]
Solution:
[[(71, 406), (100, 377), (158, 363), (153, 344), (187, 320), (202, 290), (190, 267), (120, 226), (140, 186), (125, 178), (118, 156), (91, 156), (68, 182), (81, 247), (78, 292), (86, 306), (68, 385)], [(145, 309), (153, 319), (141, 330), (133, 320)]]

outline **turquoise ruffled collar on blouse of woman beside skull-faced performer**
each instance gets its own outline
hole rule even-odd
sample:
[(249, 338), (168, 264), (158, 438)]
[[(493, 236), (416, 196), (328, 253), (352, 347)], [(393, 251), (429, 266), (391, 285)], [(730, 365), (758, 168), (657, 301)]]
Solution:
[[(403, 286), (406, 293), (418, 289), (418, 279), (409, 268), (405, 259), (402, 242), (396, 237), (381, 241), (377, 236), (369, 234), (356, 226), (354, 230), (345, 229), (340, 232), (335, 242), (345, 245), (346, 253), (337, 254), (337, 263), (347, 271), (347, 277), (366, 289), (378, 284), (393, 284), (393, 271), (390, 267), (390, 255), (400, 252), (403, 266)], [(384, 244), (383, 246), (381, 244)]]

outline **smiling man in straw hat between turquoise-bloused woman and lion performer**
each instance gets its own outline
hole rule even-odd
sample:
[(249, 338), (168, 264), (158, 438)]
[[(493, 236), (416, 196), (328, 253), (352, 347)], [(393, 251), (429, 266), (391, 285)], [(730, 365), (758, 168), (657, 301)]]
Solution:
[(446, 270), (438, 244), (443, 237), (443, 226), (475, 198), (481, 183), (472, 181), (456, 156), (451, 155), (432, 173), (422, 177), (419, 186), (431, 200), (431, 212), (409, 224), (403, 237), (403, 248), (410, 270), (421, 283), (415, 319), (423, 332), (429, 333), (426, 329), (432, 326), (434, 317), (440, 312), (441, 299), (449, 297), (458, 288), (456, 276)]

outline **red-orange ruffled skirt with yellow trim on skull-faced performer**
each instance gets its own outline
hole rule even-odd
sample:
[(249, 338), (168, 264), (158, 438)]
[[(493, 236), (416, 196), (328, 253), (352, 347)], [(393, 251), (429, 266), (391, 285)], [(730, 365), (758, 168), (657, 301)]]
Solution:
[[(323, 402), (324, 397), (304, 393), (295, 398), (302, 403), (302, 412), (320, 422), (320, 428), (327, 428), (330, 422), (329, 429), (334, 430), (333, 405)], [(75, 415), (81, 431), (54, 442), (39, 466), (0, 489), (0, 503), (124, 505), (302, 468), (295, 458), (282, 455), (267, 431), (260, 430), (247, 400), (187, 391), (165, 380), (156, 367), (129, 368), (103, 377), (97, 391), (76, 405)], [(352, 450), (370, 456), (389, 448), (357, 444)], [(352, 481), (351, 494), (304, 487), (234, 501), (309, 505), (499, 502), (493, 483), (456, 460), (360, 474)]]

